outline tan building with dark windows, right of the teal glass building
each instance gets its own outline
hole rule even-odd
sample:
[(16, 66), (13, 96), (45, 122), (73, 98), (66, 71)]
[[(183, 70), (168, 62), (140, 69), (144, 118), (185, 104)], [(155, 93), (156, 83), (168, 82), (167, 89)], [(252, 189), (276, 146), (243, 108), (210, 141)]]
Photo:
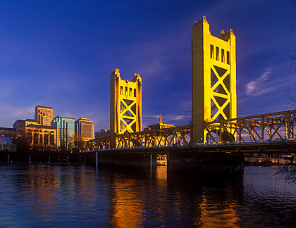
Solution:
[(86, 141), (94, 139), (94, 124), (90, 119), (75, 121), (75, 139), (77, 146), (85, 146)]

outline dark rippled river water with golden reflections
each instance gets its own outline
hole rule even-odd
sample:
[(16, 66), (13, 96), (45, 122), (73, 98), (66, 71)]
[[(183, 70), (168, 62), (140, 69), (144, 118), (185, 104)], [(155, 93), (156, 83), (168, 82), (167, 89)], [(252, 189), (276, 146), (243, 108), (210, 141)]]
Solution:
[(276, 170), (205, 177), (166, 167), (2, 164), (0, 227), (278, 227), (296, 185)]

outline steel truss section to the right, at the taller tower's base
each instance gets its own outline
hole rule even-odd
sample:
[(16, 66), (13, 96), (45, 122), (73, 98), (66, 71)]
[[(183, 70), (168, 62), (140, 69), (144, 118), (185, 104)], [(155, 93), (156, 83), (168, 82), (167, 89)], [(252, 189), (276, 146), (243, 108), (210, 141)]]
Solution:
[[(204, 122), (206, 142), (295, 139), (296, 110)], [(230, 134), (234, 132), (234, 134)]]

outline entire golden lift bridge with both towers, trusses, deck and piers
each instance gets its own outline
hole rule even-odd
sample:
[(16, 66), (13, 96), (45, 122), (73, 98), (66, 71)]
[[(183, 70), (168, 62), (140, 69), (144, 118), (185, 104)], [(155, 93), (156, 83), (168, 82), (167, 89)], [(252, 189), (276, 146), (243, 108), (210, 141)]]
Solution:
[[(205, 16), (192, 27), (192, 121), (189, 125), (142, 130), (142, 78), (111, 73), (110, 136), (87, 141), (83, 155), (96, 164), (156, 164), (235, 172), (244, 153), (295, 151), (296, 110), (237, 118), (235, 34), (214, 37)], [(209, 156), (211, 154), (211, 156)], [(233, 168), (235, 167), (235, 168)]]

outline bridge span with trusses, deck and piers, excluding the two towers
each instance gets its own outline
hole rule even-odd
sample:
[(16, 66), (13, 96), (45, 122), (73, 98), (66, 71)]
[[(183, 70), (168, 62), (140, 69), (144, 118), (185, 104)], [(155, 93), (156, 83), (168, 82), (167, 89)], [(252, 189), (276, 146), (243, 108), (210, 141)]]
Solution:
[(96, 165), (128, 167), (154, 167), (166, 155), (169, 170), (235, 173), (246, 153), (295, 153), (295, 122), (296, 110), (204, 122), (206, 143), (188, 143), (190, 125), (117, 134), (116, 147), (108, 137), (94, 139), (80, 154)]

